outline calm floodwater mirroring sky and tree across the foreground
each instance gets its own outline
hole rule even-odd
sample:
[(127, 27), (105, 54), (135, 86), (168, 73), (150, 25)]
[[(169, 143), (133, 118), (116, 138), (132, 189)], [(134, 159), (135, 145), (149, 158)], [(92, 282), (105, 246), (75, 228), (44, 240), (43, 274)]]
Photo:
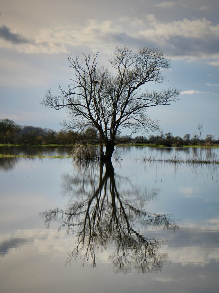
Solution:
[(1, 158), (0, 292), (218, 292), (219, 165), (141, 160), (176, 155), (218, 149), (117, 148), (107, 165)]

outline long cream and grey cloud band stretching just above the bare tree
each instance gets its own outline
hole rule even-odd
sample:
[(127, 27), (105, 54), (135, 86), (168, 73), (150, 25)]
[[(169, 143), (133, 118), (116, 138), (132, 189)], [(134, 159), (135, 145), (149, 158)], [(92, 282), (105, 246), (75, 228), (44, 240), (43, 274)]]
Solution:
[[(6, 26), (2, 28), (4, 43), (1, 46), (8, 46), (13, 40), (19, 52), (55, 54), (72, 51), (75, 47), (111, 52), (116, 45), (135, 48), (146, 45), (163, 49), (172, 59), (201, 60), (219, 66), (219, 24), (214, 25), (206, 18), (161, 22), (149, 14), (142, 19), (90, 19), (84, 25), (75, 23), (53, 29), (43, 28), (32, 39), (11, 33)], [(6, 38), (6, 33), (10, 38)]]

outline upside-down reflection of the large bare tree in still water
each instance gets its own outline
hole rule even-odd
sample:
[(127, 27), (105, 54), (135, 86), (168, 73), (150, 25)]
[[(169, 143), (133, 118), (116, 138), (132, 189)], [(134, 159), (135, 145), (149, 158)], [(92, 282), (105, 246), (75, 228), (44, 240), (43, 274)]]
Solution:
[(100, 165), (98, 176), (91, 165), (75, 177), (63, 176), (63, 188), (64, 193), (74, 193), (68, 208), (41, 215), (47, 227), (58, 221), (60, 229), (74, 235), (74, 248), (67, 262), (82, 256), (84, 263), (95, 267), (97, 249), (112, 250), (116, 246), (109, 256), (114, 272), (127, 273), (133, 268), (142, 273), (161, 270), (167, 258), (160, 251), (163, 241), (147, 239), (139, 232), (140, 228), (149, 227), (178, 228), (166, 215), (143, 210), (146, 201), (156, 197), (157, 190), (141, 190), (128, 178), (115, 175), (111, 161)]

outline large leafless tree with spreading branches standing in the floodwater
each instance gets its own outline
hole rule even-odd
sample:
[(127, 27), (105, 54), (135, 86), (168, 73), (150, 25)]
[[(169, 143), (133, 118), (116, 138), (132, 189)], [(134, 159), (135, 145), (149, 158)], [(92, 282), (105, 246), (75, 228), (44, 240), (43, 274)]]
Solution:
[(121, 131), (142, 133), (159, 130), (158, 121), (147, 115), (147, 108), (157, 105), (170, 105), (177, 100), (177, 89), (163, 91), (140, 91), (149, 81), (161, 83), (166, 79), (164, 69), (170, 68), (170, 60), (163, 51), (141, 48), (136, 52), (127, 46), (116, 47), (109, 60), (113, 75), (108, 68), (99, 68), (99, 52), (84, 54), (75, 59), (68, 56), (69, 67), (75, 71), (75, 79), (67, 90), (60, 87), (60, 96), (53, 96), (48, 90), (42, 105), (59, 110), (66, 108), (68, 129), (80, 130), (81, 127), (97, 129), (101, 149), (105, 145), (102, 159), (111, 159), (116, 137)]

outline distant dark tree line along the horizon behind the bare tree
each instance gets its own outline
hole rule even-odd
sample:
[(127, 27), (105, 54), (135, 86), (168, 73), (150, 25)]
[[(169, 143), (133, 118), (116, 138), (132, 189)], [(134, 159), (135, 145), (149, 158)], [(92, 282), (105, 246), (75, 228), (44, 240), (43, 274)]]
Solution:
[[(72, 130), (55, 131), (48, 128), (34, 127), (29, 125), (18, 125), (13, 120), (0, 119), (0, 143), (1, 144), (75, 144), (75, 143), (99, 143), (97, 131), (92, 127), (82, 129), (80, 133)], [(199, 135), (191, 137), (190, 134), (185, 134), (182, 137), (173, 136), (171, 132), (159, 135), (129, 136), (117, 137), (117, 143), (133, 143), (133, 144), (156, 144), (166, 145), (168, 147), (183, 145), (207, 144), (213, 145), (219, 143), (215, 140), (213, 134), (207, 134), (205, 139), (200, 141)]]

